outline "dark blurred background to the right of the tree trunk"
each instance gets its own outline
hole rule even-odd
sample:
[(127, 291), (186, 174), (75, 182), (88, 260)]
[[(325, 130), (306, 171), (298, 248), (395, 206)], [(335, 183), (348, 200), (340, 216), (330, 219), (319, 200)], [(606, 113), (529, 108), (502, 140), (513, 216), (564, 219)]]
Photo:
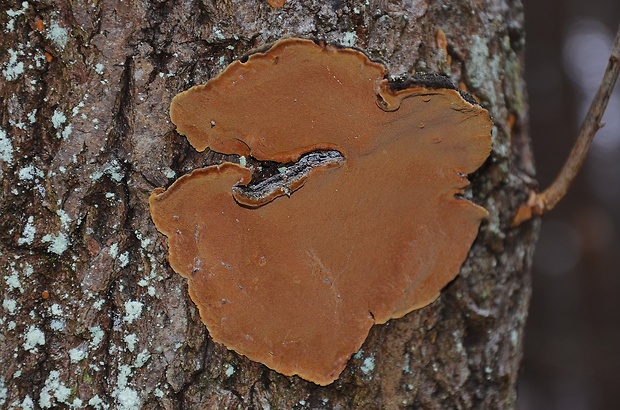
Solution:
[[(538, 181), (560, 170), (602, 78), (620, 0), (524, 0)], [(545, 216), (519, 382), (521, 410), (620, 409), (620, 87), (584, 169)]]

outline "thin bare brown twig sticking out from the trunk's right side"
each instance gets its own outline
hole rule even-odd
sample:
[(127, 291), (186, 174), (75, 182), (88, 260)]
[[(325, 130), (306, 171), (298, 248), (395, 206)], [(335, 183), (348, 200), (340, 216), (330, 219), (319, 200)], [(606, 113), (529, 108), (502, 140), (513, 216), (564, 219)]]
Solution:
[(583, 161), (588, 153), (588, 148), (594, 139), (596, 132), (603, 126), (601, 119), (605, 113), (607, 102), (611, 96), (618, 73), (620, 72), (620, 27), (616, 33), (616, 39), (611, 48), (611, 55), (603, 75), (603, 81), (590, 105), (588, 114), (581, 126), (581, 131), (575, 142), (575, 146), (570, 152), (568, 159), (564, 163), (562, 170), (553, 181), (553, 183), (541, 193), (530, 192), (528, 201), (521, 205), (516, 215), (512, 219), (511, 226), (515, 227), (521, 223), (531, 219), (534, 216), (541, 216), (553, 208), (560, 202), (566, 191), (573, 183), (575, 176), (581, 169)]

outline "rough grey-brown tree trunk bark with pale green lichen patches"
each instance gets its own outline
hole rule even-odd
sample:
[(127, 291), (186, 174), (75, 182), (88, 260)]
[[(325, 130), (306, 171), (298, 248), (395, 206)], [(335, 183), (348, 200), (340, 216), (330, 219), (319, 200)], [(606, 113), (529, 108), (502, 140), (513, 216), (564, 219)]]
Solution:
[[(533, 175), (519, 0), (14, 0), (0, 27), (0, 407), (515, 406), (538, 232), (509, 228)], [(219, 158), (174, 132), (172, 97), (284, 36), (448, 74), (496, 124), (471, 177), (490, 217), (460, 275), (375, 326), (328, 387), (214, 344), (148, 211)]]

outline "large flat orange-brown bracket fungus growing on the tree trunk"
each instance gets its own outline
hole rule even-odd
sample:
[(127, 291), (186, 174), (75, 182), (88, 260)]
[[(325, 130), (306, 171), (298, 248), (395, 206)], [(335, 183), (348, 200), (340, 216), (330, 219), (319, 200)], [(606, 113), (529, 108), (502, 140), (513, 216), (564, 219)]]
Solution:
[(385, 77), (305, 39), (235, 61), (173, 99), (177, 131), (293, 165), (257, 182), (225, 162), (149, 199), (213, 340), (320, 385), (373, 324), (439, 296), (487, 215), (462, 197), (491, 149), (487, 111), (443, 77)]

